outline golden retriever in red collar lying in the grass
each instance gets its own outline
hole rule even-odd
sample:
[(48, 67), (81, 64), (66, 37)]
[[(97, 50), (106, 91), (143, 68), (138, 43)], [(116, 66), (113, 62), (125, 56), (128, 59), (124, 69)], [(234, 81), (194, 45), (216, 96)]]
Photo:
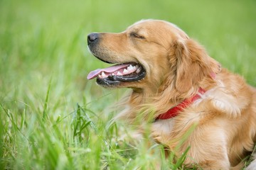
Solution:
[[(187, 166), (242, 169), (256, 141), (256, 89), (242, 77), (167, 21), (91, 33), (87, 43), (92, 55), (115, 64), (87, 79), (97, 78), (105, 88), (132, 89), (119, 118), (133, 123), (139, 115), (143, 123), (151, 122), (151, 137), (177, 156), (190, 147)], [(256, 169), (256, 160), (248, 169)]]

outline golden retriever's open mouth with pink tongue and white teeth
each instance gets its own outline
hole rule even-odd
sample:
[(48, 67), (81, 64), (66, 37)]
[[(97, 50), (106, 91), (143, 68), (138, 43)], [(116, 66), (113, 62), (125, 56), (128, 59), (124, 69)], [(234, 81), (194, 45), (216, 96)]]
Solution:
[(102, 86), (117, 86), (122, 82), (139, 81), (146, 76), (145, 69), (138, 63), (116, 64), (105, 69), (90, 72), (87, 79), (97, 78)]

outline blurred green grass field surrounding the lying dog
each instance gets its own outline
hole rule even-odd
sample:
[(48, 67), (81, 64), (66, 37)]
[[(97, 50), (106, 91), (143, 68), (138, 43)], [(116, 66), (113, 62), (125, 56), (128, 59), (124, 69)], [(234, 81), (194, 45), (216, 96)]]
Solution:
[[(0, 169), (153, 169), (163, 148), (118, 142), (127, 128), (110, 124), (109, 106), (125, 90), (86, 79), (107, 66), (87, 51), (87, 34), (171, 21), (256, 86), (255, 8), (254, 0), (0, 0)], [(182, 160), (163, 169), (183, 169)]]

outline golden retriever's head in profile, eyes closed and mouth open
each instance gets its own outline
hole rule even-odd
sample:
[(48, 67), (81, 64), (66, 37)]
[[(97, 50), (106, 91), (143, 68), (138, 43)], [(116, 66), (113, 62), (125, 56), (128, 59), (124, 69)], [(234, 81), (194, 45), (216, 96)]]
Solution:
[(91, 33), (87, 42), (92, 55), (114, 64), (87, 77), (97, 77), (105, 87), (159, 91), (168, 82), (177, 91), (188, 91), (218, 69), (197, 42), (166, 21), (139, 21), (122, 33)]

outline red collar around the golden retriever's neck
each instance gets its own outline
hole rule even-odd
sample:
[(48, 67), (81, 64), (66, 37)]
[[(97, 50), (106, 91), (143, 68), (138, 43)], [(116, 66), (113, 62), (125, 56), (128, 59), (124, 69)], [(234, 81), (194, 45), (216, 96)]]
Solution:
[(174, 118), (180, 111), (182, 111), (184, 108), (190, 106), (194, 101), (201, 98), (201, 94), (206, 93), (206, 90), (199, 88), (198, 94), (191, 96), (190, 98), (186, 98), (184, 101), (179, 103), (177, 106), (174, 106), (173, 108), (170, 108), (166, 113), (161, 113), (156, 120), (164, 120), (169, 118)]

